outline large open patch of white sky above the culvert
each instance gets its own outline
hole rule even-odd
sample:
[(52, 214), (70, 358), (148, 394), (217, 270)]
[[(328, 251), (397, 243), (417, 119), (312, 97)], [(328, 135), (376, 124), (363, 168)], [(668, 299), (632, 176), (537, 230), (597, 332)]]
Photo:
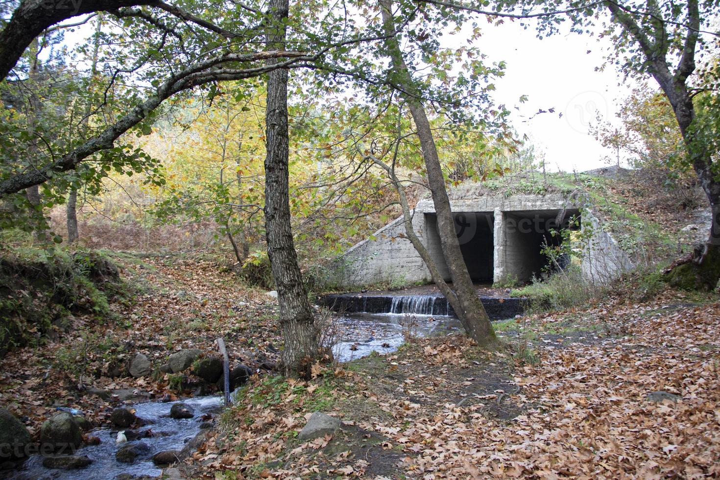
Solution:
[[(631, 85), (618, 86), (617, 71), (595, 71), (603, 63), (603, 47), (588, 35), (552, 35), (543, 40), (532, 27), (523, 30), (519, 22), (499, 26), (486, 24), (475, 45), (488, 60), (505, 60), (505, 76), (495, 82), (492, 97), (513, 112), (513, 126), (531, 137), (536, 148), (545, 153), (546, 166), (557, 171), (585, 171), (606, 166), (604, 158), (616, 158), (588, 134), (595, 112), (617, 124), (618, 101), (628, 96)], [(588, 53), (590, 50), (590, 53)], [(521, 95), (528, 101), (520, 104)], [(516, 111), (513, 107), (520, 107)], [(554, 108), (554, 113), (536, 115), (539, 109)], [(562, 118), (560, 117), (562, 113)], [(622, 160), (621, 165), (626, 166)]]

